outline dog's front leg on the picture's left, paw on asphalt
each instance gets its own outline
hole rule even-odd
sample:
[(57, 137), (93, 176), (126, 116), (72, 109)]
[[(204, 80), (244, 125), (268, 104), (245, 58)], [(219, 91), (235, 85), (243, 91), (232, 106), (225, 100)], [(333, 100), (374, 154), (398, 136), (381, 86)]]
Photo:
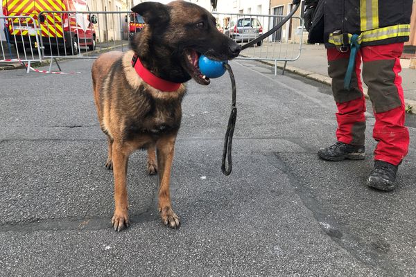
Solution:
[(130, 225), (128, 219), (128, 197), (127, 197), (127, 166), (128, 150), (123, 145), (112, 143), (112, 166), (114, 174), (114, 216), (111, 223), (114, 231), (120, 231)]

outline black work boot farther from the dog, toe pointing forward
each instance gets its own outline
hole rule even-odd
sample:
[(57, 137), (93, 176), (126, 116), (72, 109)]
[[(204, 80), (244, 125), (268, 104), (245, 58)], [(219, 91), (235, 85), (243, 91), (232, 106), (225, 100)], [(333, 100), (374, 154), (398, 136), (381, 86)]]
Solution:
[(367, 180), (367, 186), (378, 190), (390, 191), (395, 189), (395, 180), (399, 166), (386, 161), (374, 161), (374, 169)]

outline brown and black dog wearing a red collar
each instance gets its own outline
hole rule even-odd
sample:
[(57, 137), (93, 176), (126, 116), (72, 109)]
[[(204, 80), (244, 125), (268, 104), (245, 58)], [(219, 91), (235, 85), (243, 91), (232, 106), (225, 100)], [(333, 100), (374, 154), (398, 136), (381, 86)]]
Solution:
[(130, 224), (128, 157), (137, 149), (147, 149), (148, 173), (159, 172), (162, 222), (177, 228), (180, 220), (172, 210), (169, 182), (184, 82), (193, 78), (209, 84), (199, 70), (201, 54), (212, 60), (231, 60), (241, 47), (217, 30), (216, 20), (207, 10), (193, 3), (144, 2), (132, 11), (146, 22), (132, 40), (132, 50), (105, 53), (92, 66), (98, 120), (108, 139), (105, 167), (114, 172), (112, 226), (120, 231)]

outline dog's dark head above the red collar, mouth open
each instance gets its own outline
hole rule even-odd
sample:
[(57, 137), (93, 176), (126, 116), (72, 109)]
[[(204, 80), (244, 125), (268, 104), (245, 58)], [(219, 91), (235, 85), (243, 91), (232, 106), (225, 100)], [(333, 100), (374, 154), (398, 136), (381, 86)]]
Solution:
[(220, 33), (216, 19), (196, 4), (173, 1), (164, 5), (144, 2), (132, 8), (146, 26), (132, 41), (141, 62), (160, 78), (172, 82), (209, 84), (198, 66), (200, 55), (211, 60), (231, 60), (241, 46)]

